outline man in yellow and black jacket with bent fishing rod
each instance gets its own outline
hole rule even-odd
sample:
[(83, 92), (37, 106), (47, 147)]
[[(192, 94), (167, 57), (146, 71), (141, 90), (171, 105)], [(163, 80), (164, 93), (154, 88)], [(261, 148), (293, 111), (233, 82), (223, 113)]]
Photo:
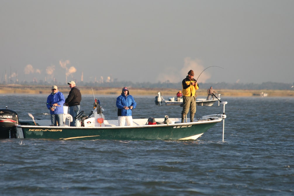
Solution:
[(190, 70), (188, 76), (182, 81), (183, 86), (183, 110), (182, 123), (190, 109), (190, 122), (194, 121), (194, 114), (196, 113), (196, 90), (199, 89), (197, 81), (193, 78), (194, 71)]

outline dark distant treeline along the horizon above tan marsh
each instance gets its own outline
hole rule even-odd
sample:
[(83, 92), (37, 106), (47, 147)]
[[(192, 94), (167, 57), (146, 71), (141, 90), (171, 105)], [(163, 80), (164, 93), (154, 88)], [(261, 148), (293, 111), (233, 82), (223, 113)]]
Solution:
[[(158, 83), (150, 83), (150, 82), (143, 82), (143, 83), (133, 83), (131, 81), (115, 81), (115, 82), (105, 82), (105, 83), (98, 83), (98, 82), (81, 82), (77, 81), (77, 86), (89, 86), (89, 87), (109, 87), (109, 88), (118, 88), (123, 86), (128, 86), (132, 88), (182, 88), (182, 83), (169, 83), (169, 82), (158, 82)], [(2, 83), (3, 84), (3, 83)], [(59, 85), (59, 86), (66, 86), (65, 83), (48, 83), (48, 82), (22, 82), (19, 83), (20, 85), (32, 85), (32, 86), (39, 86), (39, 85)], [(3, 84), (5, 85), (5, 84)], [(208, 89), (211, 86), (214, 89), (248, 89), (248, 90), (291, 90), (293, 88), (294, 83), (286, 84), (286, 83), (276, 83), (276, 82), (264, 82), (261, 84), (255, 83), (199, 83), (200, 88)]]

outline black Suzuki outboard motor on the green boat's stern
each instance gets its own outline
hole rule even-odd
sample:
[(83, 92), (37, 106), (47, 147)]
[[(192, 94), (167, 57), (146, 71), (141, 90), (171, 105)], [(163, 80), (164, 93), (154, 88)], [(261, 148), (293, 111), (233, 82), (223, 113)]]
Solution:
[(19, 124), (18, 116), (15, 111), (0, 109), (0, 139), (16, 138), (14, 124)]

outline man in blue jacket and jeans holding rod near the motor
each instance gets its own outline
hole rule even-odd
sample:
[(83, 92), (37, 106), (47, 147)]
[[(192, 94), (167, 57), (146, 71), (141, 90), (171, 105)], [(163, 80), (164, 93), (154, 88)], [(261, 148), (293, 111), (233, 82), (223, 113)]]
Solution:
[(51, 125), (62, 126), (63, 125), (63, 104), (64, 95), (58, 91), (57, 86), (52, 86), (51, 94), (47, 97), (47, 108), (50, 110)]

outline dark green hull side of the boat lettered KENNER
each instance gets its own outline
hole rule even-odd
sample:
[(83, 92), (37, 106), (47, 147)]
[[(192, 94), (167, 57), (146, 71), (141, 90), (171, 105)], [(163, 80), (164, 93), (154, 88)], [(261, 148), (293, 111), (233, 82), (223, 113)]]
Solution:
[(60, 140), (189, 140), (197, 139), (220, 121), (93, 128), (16, 125), (16, 135)]

